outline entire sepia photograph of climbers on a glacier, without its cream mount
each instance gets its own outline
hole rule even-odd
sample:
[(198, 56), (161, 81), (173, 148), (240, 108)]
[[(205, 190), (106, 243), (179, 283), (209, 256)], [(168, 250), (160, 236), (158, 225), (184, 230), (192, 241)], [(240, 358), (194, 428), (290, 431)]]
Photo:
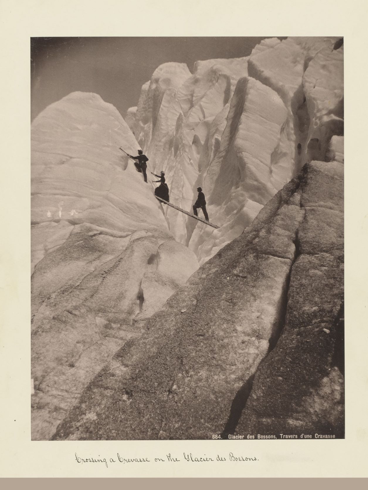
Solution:
[(343, 62), (30, 38), (32, 441), (344, 439)]

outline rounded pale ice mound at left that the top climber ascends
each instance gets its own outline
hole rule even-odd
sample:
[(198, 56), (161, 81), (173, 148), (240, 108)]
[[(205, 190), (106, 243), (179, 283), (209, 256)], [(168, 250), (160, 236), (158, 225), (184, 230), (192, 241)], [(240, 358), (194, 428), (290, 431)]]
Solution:
[(119, 112), (75, 92), (32, 123), (32, 438), (198, 268), (176, 242)]

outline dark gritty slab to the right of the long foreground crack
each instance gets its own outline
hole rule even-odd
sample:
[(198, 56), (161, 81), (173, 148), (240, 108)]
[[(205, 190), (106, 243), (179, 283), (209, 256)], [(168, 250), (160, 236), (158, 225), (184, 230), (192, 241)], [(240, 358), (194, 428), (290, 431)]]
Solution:
[(302, 186), (285, 327), (258, 368), (237, 433), (343, 437), (343, 165)]

